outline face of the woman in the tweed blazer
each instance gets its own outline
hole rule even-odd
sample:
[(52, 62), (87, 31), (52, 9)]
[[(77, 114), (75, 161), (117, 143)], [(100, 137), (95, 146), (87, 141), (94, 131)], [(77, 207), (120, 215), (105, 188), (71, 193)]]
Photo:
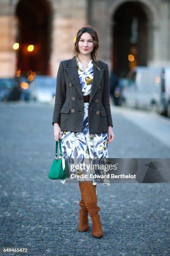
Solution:
[(80, 54), (90, 54), (94, 48), (92, 36), (85, 32), (80, 36), (78, 42), (78, 49)]

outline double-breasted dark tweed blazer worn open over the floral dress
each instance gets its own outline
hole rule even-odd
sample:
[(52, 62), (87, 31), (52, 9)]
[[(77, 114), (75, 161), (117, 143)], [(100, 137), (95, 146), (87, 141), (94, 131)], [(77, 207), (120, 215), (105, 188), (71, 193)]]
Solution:
[[(110, 83), (108, 65), (99, 61), (100, 70), (93, 61), (93, 80), (88, 106), (89, 133), (107, 133), (112, 125), (110, 112)], [(60, 61), (52, 125), (58, 123), (61, 131), (82, 132), (84, 101), (77, 72), (75, 56)]]

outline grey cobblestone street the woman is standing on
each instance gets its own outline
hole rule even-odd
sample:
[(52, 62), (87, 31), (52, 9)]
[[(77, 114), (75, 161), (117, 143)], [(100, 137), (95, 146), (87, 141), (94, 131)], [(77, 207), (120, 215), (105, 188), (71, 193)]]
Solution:
[[(169, 184), (97, 184), (104, 236), (92, 237), (90, 217), (90, 230), (78, 232), (78, 184), (48, 178), (52, 113), (52, 105), (0, 104), (0, 248), (45, 256), (170, 255)], [(116, 108), (112, 120), (109, 157), (169, 157), (164, 141)]]

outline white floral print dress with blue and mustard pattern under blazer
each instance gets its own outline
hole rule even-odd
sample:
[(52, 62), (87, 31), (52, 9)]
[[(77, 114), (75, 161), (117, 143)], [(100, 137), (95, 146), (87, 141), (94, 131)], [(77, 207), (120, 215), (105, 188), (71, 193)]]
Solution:
[[(90, 60), (86, 70), (83, 70), (82, 64), (78, 61), (77, 71), (80, 79), (82, 95), (90, 94), (93, 80), (93, 63), (92, 59)], [(84, 102), (84, 121), (83, 121), (83, 131), (81, 133), (78, 132), (70, 132), (70, 131), (62, 131), (62, 153), (64, 157), (67, 159), (67, 163), (70, 170), (71, 164), (80, 164), (85, 163), (84, 166), (96, 164), (95, 159), (107, 159), (107, 133), (97, 133), (97, 134), (89, 134), (88, 129), (88, 102)], [(101, 161), (100, 161), (101, 164)], [(102, 163), (104, 164), (104, 163)], [(97, 174), (104, 175), (107, 174), (105, 170), (98, 169), (96, 171), (95, 168), (84, 168), (79, 170), (70, 170), (70, 174), (81, 175), (86, 174)], [(92, 175), (93, 176), (93, 175)], [(89, 176), (90, 177), (90, 176)], [(72, 178), (66, 178), (61, 180), (62, 184), (68, 184), (69, 180)], [(97, 184), (97, 181), (102, 181), (103, 185), (110, 185), (110, 181), (107, 178), (99, 179), (99, 178), (74, 178), (79, 181), (91, 180), (93, 185)], [(73, 180), (73, 179), (72, 179)]]

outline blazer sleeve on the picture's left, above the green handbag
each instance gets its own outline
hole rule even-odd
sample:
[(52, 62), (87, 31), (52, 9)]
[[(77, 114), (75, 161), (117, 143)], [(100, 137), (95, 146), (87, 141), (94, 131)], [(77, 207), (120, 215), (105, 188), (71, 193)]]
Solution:
[(58, 123), (60, 125), (60, 110), (62, 108), (63, 103), (65, 102), (65, 95), (66, 95), (66, 86), (65, 86), (65, 78), (64, 78), (64, 69), (63, 69), (62, 61), (60, 61), (60, 65), (57, 72), (55, 105), (54, 105), (54, 112), (52, 117), (52, 125), (54, 125), (54, 123)]

